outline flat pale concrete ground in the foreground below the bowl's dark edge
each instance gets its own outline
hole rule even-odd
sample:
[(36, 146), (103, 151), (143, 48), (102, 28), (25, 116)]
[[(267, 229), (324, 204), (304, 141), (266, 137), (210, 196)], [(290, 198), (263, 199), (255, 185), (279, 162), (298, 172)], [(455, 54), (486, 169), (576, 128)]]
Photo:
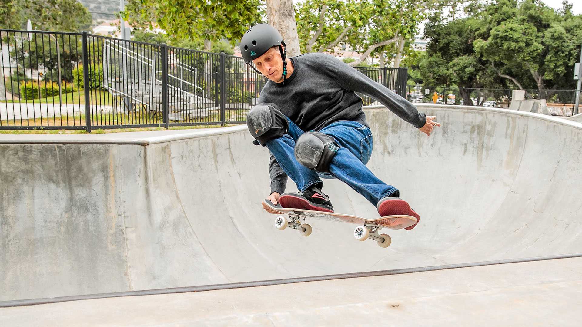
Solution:
[(0, 309), (3, 326), (579, 326), (582, 258)]

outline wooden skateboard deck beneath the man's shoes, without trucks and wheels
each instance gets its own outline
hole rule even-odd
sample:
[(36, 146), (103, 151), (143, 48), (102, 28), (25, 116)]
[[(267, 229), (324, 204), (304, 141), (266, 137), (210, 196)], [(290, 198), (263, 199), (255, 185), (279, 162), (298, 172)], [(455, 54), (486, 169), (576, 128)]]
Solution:
[(365, 219), (359, 216), (337, 214), (335, 212), (322, 212), (305, 209), (282, 208), (274, 205), (270, 200), (263, 200), (262, 207), (269, 214), (297, 216), (302, 219), (318, 219), (322, 221), (347, 222), (357, 225), (377, 225), (388, 229), (402, 229), (414, 225), (417, 219), (407, 215), (392, 215), (379, 218)]

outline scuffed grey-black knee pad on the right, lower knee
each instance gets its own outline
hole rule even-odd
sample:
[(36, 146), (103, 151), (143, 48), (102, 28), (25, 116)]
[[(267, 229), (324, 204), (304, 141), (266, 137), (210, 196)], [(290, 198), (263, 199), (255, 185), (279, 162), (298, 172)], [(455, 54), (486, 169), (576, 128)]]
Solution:
[(308, 131), (295, 143), (295, 159), (307, 168), (329, 173), (329, 163), (339, 148), (333, 137), (318, 131)]

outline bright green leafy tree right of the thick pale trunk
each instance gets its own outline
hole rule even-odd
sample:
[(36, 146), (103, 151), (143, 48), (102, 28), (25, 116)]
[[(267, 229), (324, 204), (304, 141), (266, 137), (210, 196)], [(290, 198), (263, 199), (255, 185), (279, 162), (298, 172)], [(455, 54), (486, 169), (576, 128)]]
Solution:
[(351, 65), (378, 56), (382, 66), (387, 58), (398, 67), (421, 20), (435, 12), (458, 15), (459, 8), (467, 7), (463, 3), (473, 1), (306, 0), (297, 3), (297, 30), (304, 51), (331, 51), (346, 44), (362, 54)]

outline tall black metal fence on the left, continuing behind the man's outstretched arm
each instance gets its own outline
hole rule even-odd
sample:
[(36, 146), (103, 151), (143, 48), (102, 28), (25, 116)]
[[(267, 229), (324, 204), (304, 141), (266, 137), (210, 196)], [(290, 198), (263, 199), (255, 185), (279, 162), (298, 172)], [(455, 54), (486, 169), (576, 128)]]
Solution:
[[(267, 82), (240, 57), (87, 33), (0, 30), (0, 45), (0, 129), (243, 123)], [(406, 95), (407, 69), (356, 69)]]

